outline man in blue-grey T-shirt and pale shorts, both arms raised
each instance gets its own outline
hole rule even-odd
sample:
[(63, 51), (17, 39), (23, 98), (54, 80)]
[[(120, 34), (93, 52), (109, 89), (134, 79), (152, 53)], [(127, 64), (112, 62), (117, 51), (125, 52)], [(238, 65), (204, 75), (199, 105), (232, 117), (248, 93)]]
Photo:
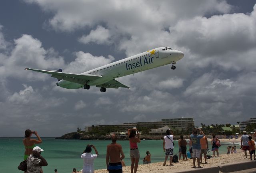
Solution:
[[(202, 135), (198, 135), (197, 133), (200, 132)], [(200, 166), (200, 153), (201, 153), (201, 145), (200, 139), (204, 137), (204, 132), (200, 129), (194, 129), (192, 135), (190, 135), (190, 139), (192, 140), (192, 148), (193, 148), (193, 167), (196, 168), (196, 158), (197, 158), (197, 168), (202, 168)]]

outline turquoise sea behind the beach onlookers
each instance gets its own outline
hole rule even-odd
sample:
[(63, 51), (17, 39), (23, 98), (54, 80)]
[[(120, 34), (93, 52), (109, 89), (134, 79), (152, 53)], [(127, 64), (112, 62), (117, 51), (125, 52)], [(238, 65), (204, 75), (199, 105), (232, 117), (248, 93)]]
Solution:
[[(0, 173), (22, 173), (17, 166), (23, 159), (24, 146), (22, 137), (0, 137)], [(86, 140), (64, 140), (54, 139), (53, 137), (42, 137), (43, 143), (39, 144), (44, 151), (42, 156), (48, 162), (48, 166), (43, 167), (44, 173), (71, 173), (73, 168), (82, 169), (83, 161), (80, 158), (87, 144), (94, 145), (99, 152), (98, 158), (94, 161), (94, 169), (106, 169), (106, 146), (111, 141), (86, 141)], [(129, 142), (118, 141), (123, 147), (126, 165), (130, 165)], [(138, 144), (140, 150), (140, 164), (146, 155), (146, 150), (151, 153), (152, 163), (162, 162), (164, 151), (162, 149), (162, 140), (141, 141)], [(178, 154), (178, 141), (174, 141), (174, 154)], [(227, 144), (222, 143), (220, 154), (226, 153)], [(93, 152), (94, 153), (94, 152)], [(212, 152), (208, 153), (212, 155)]]

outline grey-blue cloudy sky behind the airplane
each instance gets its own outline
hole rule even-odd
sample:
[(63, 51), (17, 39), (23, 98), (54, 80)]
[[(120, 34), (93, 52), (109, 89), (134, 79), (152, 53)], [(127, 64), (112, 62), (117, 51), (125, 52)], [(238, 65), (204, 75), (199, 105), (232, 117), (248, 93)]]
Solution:
[[(0, 136), (194, 117), (256, 117), (256, 0), (5, 0), (0, 3)], [(176, 64), (118, 78), (130, 89), (69, 90), (37, 68), (81, 73), (168, 46)]]

